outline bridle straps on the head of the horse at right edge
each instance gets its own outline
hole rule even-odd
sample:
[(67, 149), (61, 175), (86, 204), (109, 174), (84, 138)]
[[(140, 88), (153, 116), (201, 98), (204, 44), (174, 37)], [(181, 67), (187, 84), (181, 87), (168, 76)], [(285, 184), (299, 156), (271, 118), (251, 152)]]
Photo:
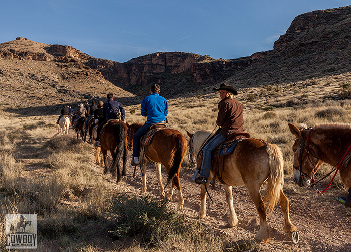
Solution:
[[(305, 139), (306, 139), (306, 132), (309, 131), (308, 133), (308, 137), (307, 137), (307, 145), (305, 145)], [(317, 159), (320, 159), (319, 157), (316, 156), (315, 152), (309, 147), (309, 139), (311, 137), (311, 133), (312, 131), (314, 130), (314, 128), (308, 128), (306, 129), (305, 131), (302, 132), (302, 137), (301, 139), (298, 139), (300, 141), (300, 154), (299, 154), (299, 163), (300, 163), (300, 166), (294, 166), (293, 165), (293, 168), (296, 169), (296, 170), (300, 170), (300, 177), (301, 179), (308, 185), (312, 186), (312, 185), (315, 185), (315, 180), (314, 180), (314, 174), (317, 172), (318, 168), (315, 168), (315, 171), (313, 172), (312, 174), (312, 178), (303, 171), (303, 168), (302, 168), (302, 163), (303, 161), (305, 160), (305, 158), (307, 157), (309, 162), (311, 162), (311, 164), (313, 165), (313, 162), (311, 160), (311, 158), (309, 157), (309, 154), (311, 154), (313, 157), (317, 158)], [(305, 155), (303, 156), (303, 153), (305, 152)], [(313, 154), (312, 154), (313, 153)], [(315, 167), (315, 165), (313, 165), (313, 167)], [(312, 182), (312, 185), (311, 183), (306, 179), (306, 177), (308, 177), (308, 179), (311, 180)], [(319, 182), (319, 181), (318, 181)]]

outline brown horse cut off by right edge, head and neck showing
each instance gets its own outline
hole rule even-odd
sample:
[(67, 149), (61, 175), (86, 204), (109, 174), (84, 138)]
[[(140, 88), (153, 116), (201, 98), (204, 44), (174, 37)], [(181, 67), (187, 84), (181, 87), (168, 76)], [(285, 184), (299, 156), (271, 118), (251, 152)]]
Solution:
[[(326, 162), (340, 171), (346, 189), (351, 187), (351, 168), (348, 166), (351, 149), (351, 124), (325, 123), (314, 128), (289, 123), (290, 132), (296, 137), (294, 151), (294, 181), (299, 186), (314, 185), (314, 174)], [(334, 175), (334, 176), (335, 176)], [(330, 186), (329, 183), (328, 187)], [(328, 188), (327, 187), (327, 188)], [(326, 189), (327, 189), (326, 188)], [(324, 189), (322, 192), (324, 192)]]

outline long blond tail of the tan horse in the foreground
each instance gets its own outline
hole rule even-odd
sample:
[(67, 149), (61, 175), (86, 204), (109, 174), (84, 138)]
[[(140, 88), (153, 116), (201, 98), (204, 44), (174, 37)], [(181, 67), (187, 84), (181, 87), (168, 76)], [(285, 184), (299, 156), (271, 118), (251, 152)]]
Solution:
[(268, 202), (268, 214), (271, 214), (283, 190), (284, 159), (282, 151), (275, 144), (267, 143), (266, 151), (269, 156), (269, 177), (264, 201)]

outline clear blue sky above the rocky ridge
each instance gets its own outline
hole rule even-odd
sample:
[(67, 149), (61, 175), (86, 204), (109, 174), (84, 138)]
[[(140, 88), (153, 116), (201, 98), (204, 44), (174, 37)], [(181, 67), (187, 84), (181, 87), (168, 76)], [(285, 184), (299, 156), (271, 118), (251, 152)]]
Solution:
[(351, 0), (0, 0), (0, 43), (25, 37), (126, 62), (155, 52), (234, 59), (273, 49), (292, 20)]

